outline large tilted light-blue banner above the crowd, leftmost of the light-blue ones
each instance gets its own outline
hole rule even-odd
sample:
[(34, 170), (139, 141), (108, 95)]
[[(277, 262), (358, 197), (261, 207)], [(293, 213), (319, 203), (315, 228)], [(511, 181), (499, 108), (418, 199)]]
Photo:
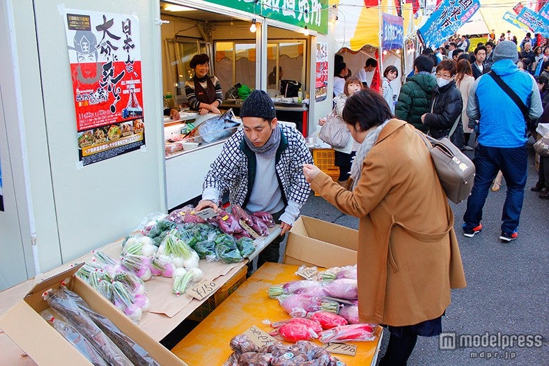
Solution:
[(427, 47), (439, 47), (479, 8), (479, 0), (445, 0), (417, 32)]

